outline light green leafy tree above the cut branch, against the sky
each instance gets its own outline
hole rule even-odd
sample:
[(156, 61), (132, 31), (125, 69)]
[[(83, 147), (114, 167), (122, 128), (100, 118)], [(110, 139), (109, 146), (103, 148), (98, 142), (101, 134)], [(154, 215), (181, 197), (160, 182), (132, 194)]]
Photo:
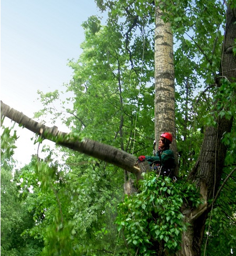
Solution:
[[(73, 130), (131, 152), (135, 129), (138, 127), (136, 139), (143, 140), (143, 121), (152, 125), (153, 106), (149, 102), (154, 94), (151, 88), (145, 87), (151, 80), (150, 71), (143, 69), (146, 72), (144, 76), (136, 67), (138, 63), (135, 66), (134, 62), (130, 63), (120, 27), (101, 26), (100, 20), (95, 17), (84, 22), (83, 27), (86, 39), (81, 45), (83, 53), (76, 62), (69, 62), (74, 70), (68, 87), (75, 94), (70, 119)], [(140, 45), (141, 41), (137, 44)], [(145, 53), (148, 50), (145, 49)], [(145, 129), (151, 130), (151, 125)]]

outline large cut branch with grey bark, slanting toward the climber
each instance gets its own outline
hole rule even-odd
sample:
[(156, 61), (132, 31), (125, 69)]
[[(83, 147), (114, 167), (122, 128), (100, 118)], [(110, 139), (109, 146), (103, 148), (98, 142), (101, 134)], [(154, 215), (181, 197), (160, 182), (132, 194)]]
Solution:
[[(88, 138), (80, 138), (73, 133), (58, 131), (56, 126), (48, 127), (28, 118), (22, 112), (19, 112), (1, 101), (1, 115), (10, 120), (23, 125), (29, 131), (40, 135), (42, 138), (55, 142), (58, 145), (66, 146), (74, 151), (78, 151), (107, 163), (121, 167), (128, 172), (136, 175), (137, 179), (141, 178), (142, 171), (135, 165), (136, 157), (125, 151), (119, 150), (113, 146), (106, 145)], [(140, 166), (142, 169), (142, 165)]]

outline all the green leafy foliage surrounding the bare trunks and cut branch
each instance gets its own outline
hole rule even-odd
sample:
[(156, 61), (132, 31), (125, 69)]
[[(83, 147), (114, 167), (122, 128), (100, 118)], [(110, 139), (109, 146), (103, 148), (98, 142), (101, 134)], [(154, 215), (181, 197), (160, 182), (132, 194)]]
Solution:
[[(149, 155), (154, 139), (154, 1), (95, 2), (108, 20), (103, 26), (92, 16), (82, 24), (83, 52), (68, 63), (73, 78), (66, 88), (73, 97), (61, 101), (63, 111), (58, 111), (55, 101), (62, 94), (39, 91), (43, 109), (35, 116), (45, 121), (45, 115), (53, 115), (52, 123), (60, 118), (78, 137)], [(214, 81), (226, 9), (209, 0), (158, 4), (175, 37), (176, 140), (184, 178), (197, 161), (206, 125), (216, 125), (217, 118), (235, 119), (235, 83), (223, 79), (216, 87)], [(73, 105), (67, 108), (68, 102)], [(60, 154), (49, 153), (45, 159), (34, 156), (13, 177), (17, 136), (10, 129), (2, 135), (3, 254), (153, 255), (158, 243), (170, 254), (178, 250), (186, 228), (181, 206), (200, 204), (194, 186), (146, 174), (140, 193), (124, 198), (116, 218), (123, 175), (114, 166), (60, 148)], [(221, 183), (236, 162), (235, 141), (234, 121), (232, 132), (222, 137), (228, 152)], [(207, 255), (235, 250), (234, 194), (232, 176), (207, 222)], [(122, 228), (126, 240), (121, 239)]]

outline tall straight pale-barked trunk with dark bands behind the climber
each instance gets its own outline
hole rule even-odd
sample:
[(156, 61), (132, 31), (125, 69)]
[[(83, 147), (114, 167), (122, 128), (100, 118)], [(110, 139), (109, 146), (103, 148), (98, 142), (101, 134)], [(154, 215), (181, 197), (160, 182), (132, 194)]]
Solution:
[[(175, 71), (173, 33), (169, 23), (162, 19), (163, 12), (156, 6), (155, 27), (155, 140), (160, 134), (170, 132), (173, 135), (171, 150), (173, 150), (176, 166), (178, 153), (175, 127)], [(175, 175), (178, 170), (176, 168)]]

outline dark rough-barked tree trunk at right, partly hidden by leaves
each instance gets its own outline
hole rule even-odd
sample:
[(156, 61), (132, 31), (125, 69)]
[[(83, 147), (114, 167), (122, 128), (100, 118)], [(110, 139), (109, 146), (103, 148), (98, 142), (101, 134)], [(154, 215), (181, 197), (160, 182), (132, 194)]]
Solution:
[[(235, 9), (232, 10), (228, 6), (220, 78), (227, 78), (230, 82), (234, 82), (232, 78), (236, 78), (236, 58), (233, 56), (235, 38)], [(220, 79), (216, 78), (216, 81), (216, 86), (220, 86)], [(183, 208), (186, 222), (190, 226), (183, 234), (182, 250), (179, 255), (198, 256), (201, 254), (205, 221), (210, 208), (208, 201), (214, 199), (217, 193), (227, 153), (227, 147), (221, 142), (221, 139), (225, 132), (231, 131), (233, 121), (224, 117), (216, 117), (216, 119), (216, 127), (206, 128), (198, 161), (188, 176), (188, 181), (195, 183), (200, 188), (200, 194), (205, 202), (195, 210), (188, 210), (188, 206)]]

